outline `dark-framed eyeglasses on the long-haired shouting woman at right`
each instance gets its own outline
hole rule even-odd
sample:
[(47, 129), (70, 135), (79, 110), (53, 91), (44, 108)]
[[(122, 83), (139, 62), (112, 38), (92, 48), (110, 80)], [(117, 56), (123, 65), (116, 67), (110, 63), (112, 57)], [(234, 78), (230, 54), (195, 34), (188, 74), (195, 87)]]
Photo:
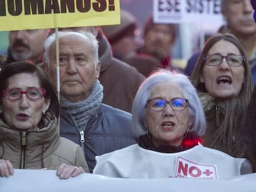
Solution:
[(221, 56), (221, 54), (211, 54), (211, 55), (205, 55), (203, 56), (203, 59), (205, 60), (206, 64), (209, 66), (216, 66), (220, 65), (223, 61), (223, 58), (226, 59), (228, 65), (231, 65), (233, 67), (240, 67), (242, 65), (242, 62), (244, 61), (244, 56), (235, 55), (235, 54), (228, 54), (228, 56)]

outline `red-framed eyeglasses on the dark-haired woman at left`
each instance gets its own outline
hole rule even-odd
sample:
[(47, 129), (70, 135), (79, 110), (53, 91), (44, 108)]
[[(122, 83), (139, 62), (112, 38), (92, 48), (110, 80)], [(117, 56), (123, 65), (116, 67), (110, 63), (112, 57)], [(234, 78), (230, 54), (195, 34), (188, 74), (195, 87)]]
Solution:
[(19, 89), (2, 90), (2, 96), (11, 101), (20, 99), (22, 94), (25, 94), (29, 99), (41, 99), (45, 96), (46, 91), (41, 88), (30, 88), (27, 91), (22, 91)]

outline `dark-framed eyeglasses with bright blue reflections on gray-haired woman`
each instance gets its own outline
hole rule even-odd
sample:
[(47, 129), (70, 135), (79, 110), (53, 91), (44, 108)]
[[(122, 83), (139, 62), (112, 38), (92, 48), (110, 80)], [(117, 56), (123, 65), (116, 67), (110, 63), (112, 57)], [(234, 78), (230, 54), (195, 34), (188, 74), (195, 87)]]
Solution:
[(147, 103), (152, 111), (163, 111), (167, 104), (169, 104), (174, 111), (182, 111), (186, 109), (189, 100), (173, 98), (170, 101), (166, 101), (165, 99), (155, 98), (148, 100)]

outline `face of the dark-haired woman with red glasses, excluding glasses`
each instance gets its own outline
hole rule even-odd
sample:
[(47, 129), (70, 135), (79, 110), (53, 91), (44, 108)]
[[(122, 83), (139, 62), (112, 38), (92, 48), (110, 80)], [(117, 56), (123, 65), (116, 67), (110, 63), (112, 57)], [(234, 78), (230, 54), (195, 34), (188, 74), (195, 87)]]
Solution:
[[(40, 88), (38, 77), (32, 73), (19, 73), (8, 79), (7, 89), (15, 88), (26, 91), (28, 88)], [(20, 99), (10, 101), (2, 98), (2, 114), (7, 125), (20, 130), (36, 129), (42, 112), (47, 111), (50, 99), (29, 99), (22, 94)]]

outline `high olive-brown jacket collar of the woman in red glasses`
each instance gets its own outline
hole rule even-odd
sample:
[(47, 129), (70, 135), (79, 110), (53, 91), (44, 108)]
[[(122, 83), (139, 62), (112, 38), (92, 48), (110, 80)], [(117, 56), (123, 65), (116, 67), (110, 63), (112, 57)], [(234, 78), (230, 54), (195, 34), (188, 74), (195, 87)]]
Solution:
[[(43, 156), (49, 156), (59, 144), (59, 128), (58, 120), (51, 112), (43, 115), (45, 127), (39, 130), (28, 130), (26, 135), (25, 150), (26, 156), (33, 162), (41, 161), (41, 153)], [(6, 123), (0, 119), (0, 140), (2, 143), (9, 143), (11, 149), (19, 152), (22, 148), (22, 131), (9, 128)], [(49, 148), (49, 146), (53, 146)], [(43, 149), (42, 149), (43, 148)]]

